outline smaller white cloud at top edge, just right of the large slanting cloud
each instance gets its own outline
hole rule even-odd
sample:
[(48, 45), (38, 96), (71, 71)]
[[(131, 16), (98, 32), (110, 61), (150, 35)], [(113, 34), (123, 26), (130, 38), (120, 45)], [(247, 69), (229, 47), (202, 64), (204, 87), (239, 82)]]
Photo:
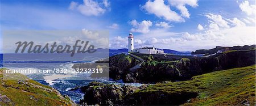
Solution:
[(178, 10), (181, 12), (181, 16), (185, 18), (189, 18), (190, 14), (188, 12), (188, 9), (185, 7), (185, 5), (191, 6), (191, 7), (197, 7), (197, 0), (168, 0), (168, 2), (175, 6)]

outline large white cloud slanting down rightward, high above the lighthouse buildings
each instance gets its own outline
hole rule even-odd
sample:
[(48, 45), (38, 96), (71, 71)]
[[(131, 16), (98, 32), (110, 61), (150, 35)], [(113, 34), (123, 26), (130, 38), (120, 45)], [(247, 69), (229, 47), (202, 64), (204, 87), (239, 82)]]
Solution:
[(164, 4), (163, 0), (147, 1), (142, 9), (146, 10), (149, 14), (155, 14), (159, 18), (163, 18), (170, 22), (184, 22), (184, 19), (175, 11), (170, 9), (170, 6)]

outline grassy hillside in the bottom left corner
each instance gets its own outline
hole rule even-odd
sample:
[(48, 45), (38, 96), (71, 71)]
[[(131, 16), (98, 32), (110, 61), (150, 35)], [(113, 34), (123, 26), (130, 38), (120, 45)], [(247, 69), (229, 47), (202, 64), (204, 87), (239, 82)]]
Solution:
[(4, 70), (0, 69), (0, 105), (74, 105), (69, 97), (63, 97), (57, 90), (29, 80), (25, 75), (10, 76), (23, 80), (6, 80), (2, 74)]

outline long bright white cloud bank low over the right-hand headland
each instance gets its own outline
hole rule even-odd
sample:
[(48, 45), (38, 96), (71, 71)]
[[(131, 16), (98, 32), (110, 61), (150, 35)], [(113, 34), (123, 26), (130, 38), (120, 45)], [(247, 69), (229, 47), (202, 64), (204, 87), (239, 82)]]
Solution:
[[(212, 49), (215, 46), (234, 46), (255, 44), (255, 27), (232, 27), (218, 31), (205, 31), (204, 33), (177, 33), (179, 37), (163, 39), (155, 37), (157, 48), (174, 50)], [(161, 35), (161, 33), (159, 33)]]

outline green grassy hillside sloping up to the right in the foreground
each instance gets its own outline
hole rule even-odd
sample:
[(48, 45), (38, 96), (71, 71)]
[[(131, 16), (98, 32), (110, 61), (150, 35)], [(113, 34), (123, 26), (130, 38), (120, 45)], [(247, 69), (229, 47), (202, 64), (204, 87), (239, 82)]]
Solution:
[(183, 82), (157, 83), (135, 91), (132, 96), (140, 97), (138, 101), (147, 104), (151, 101), (146, 100), (151, 98), (144, 95), (167, 95), (168, 100), (175, 101), (174, 95), (193, 93), (195, 98), (185, 100), (183, 105), (255, 105), (255, 65), (214, 71)]

